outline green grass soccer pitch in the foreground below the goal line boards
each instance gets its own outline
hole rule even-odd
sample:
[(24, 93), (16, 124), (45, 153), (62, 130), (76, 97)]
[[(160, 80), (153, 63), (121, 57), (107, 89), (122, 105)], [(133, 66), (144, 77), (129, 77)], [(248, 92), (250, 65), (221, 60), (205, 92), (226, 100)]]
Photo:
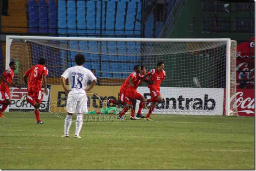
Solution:
[[(83, 125), (10, 112), (0, 118), (0, 169), (255, 169), (254, 117), (152, 115)], [(63, 115), (65, 116), (65, 115)], [(75, 117), (74, 117), (75, 118)]]

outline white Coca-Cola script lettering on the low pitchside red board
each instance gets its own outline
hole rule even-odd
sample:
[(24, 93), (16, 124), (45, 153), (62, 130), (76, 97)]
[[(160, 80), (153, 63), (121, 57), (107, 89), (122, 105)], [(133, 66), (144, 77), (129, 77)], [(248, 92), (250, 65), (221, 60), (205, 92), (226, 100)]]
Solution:
[[(238, 113), (245, 112), (247, 114), (254, 113), (254, 99), (251, 97), (243, 97), (243, 92), (237, 92), (236, 96), (231, 97), (231, 101), (236, 97), (236, 101), (233, 105), (234, 108), (238, 109)], [(244, 99), (245, 98), (245, 99)], [(251, 109), (251, 110), (250, 110)]]

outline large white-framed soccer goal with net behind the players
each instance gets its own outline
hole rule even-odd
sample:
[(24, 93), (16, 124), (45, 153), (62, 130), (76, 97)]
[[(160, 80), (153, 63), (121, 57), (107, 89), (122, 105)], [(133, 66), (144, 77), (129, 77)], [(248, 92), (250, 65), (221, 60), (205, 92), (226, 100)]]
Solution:
[[(86, 57), (84, 67), (96, 71), (100, 86), (121, 86), (134, 65), (149, 71), (164, 61), (167, 75), (160, 89), (164, 101), (157, 113), (236, 113), (236, 41), (230, 39), (6, 37), (6, 68), (16, 61), (14, 82), (20, 85), (24, 72), (41, 57), (47, 59), (48, 84), (60, 84), (59, 77), (76, 65), (78, 53)], [(137, 91), (150, 99), (146, 83)]]

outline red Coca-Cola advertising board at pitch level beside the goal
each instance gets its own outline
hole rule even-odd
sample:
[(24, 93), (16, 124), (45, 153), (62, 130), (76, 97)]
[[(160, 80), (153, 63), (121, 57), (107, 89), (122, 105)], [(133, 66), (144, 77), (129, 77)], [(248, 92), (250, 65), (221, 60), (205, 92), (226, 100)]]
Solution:
[[(236, 107), (239, 116), (254, 116), (254, 89), (236, 89)], [(232, 99), (231, 99), (232, 100)]]

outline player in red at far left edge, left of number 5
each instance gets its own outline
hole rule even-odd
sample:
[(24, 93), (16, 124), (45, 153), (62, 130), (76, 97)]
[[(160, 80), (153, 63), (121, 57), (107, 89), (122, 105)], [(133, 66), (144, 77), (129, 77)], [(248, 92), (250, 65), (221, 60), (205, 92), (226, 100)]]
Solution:
[(13, 77), (14, 77), (14, 70), (17, 69), (17, 65), (14, 61), (11, 61), (9, 63), (9, 69), (5, 70), (1, 75), (0, 79), (2, 80), (0, 84), (0, 91), (2, 94), (2, 99), (0, 101), (0, 104), (2, 104), (2, 109), (0, 109), (0, 117), (5, 117), (3, 115), (3, 112), (7, 108), (9, 104), (11, 104), (11, 95), (10, 95), (10, 87), (16, 87), (21, 89), (21, 86), (15, 85), (13, 83)]

